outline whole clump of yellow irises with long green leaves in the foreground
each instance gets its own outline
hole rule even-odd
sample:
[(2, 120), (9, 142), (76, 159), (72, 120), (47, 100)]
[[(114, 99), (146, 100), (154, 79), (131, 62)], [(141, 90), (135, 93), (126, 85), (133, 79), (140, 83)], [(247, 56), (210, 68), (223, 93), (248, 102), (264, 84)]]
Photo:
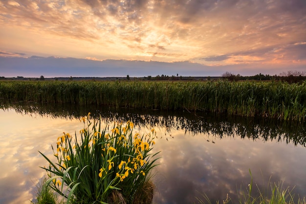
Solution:
[(158, 159), (158, 153), (150, 154), (155, 131), (140, 136), (133, 133), (131, 121), (102, 129), (101, 120), (91, 120), (89, 114), (81, 118), (79, 139), (66, 133), (58, 137), (56, 148), (52, 146), (56, 162), (41, 153), (50, 163), (42, 167), (49, 177), (44, 186), (67, 204), (152, 203), (150, 171)]

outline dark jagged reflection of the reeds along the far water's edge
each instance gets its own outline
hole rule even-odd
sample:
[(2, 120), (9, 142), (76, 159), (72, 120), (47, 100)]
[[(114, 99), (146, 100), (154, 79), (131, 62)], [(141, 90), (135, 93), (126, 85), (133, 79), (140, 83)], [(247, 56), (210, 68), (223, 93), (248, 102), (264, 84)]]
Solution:
[(217, 138), (240, 136), (241, 138), (263, 139), (293, 143), (306, 147), (306, 122), (288, 122), (265, 118), (245, 118), (240, 116), (196, 115), (188, 112), (163, 112), (152, 110), (114, 109), (97, 106), (50, 106), (50, 105), (7, 105), (18, 113), (40, 114), (54, 118), (80, 118), (91, 113), (93, 117), (101, 115), (106, 123), (131, 120), (139, 127), (165, 128), (183, 130), (185, 133), (209, 134)]

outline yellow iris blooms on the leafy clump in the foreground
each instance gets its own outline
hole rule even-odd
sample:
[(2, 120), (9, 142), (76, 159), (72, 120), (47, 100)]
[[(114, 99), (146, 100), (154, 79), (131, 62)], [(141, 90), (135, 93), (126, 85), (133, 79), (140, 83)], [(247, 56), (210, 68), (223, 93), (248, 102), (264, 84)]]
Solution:
[[(87, 119), (89, 118), (89, 115), (90, 113), (88, 113)], [(85, 122), (86, 118), (82, 117), (80, 121)], [(102, 150), (105, 155), (102, 154), (101, 156), (106, 157), (106, 155), (108, 155), (107, 158), (110, 158), (110, 159), (107, 160), (108, 162), (107, 167), (102, 166), (99, 169), (98, 176), (100, 178), (108, 174), (108, 172), (110, 171), (115, 171), (116, 177), (118, 177), (120, 181), (124, 181), (124, 179), (126, 179), (129, 176), (129, 174), (134, 174), (135, 172), (143, 176), (146, 175), (146, 172), (141, 170), (141, 167), (143, 167), (147, 163), (147, 161), (143, 158), (143, 153), (144, 151), (148, 152), (150, 149), (150, 145), (155, 144), (155, 142), (153, 141), (153, 139), (151, 139), (149, 135), (140, 136), (139, 133), (135, 133), (133, 136), (133, 139), (131, 140), (131, 138), (129, 138), (129, 136), (131, 135), (128, 136), (127, 133), (129, 130), (132, 131), (133, 127), (134, 127), (134, 124), (131, 121), (128, 121), (125, 127), (122, 126), (122, 123), (117, 123), (116, 126), (114, 123), (114, 128), (112, 128), (108, 133), (105, 132), (104, 141), (107, 141), (107, 142), (105, 142), (105, 145), (102, 145)], [(156, 133), (154, 129), (152, 129), (151, 132), (153, 134)], [(81, 135), (85, 133), (88, 134), (88, 129), (84, 128), (80, 130)], [(73, 155), (71, 148), (69, 148), (71, 147), (71, 144), (69, 143), (70, 146), (67, 144), (68, 140), (71, 141), (70, 139), (71, 136), (69, 133), (66, 134), (64, 132), (63, 134), (64, 134), (63, 136), (59, 136), (57, 138), (57, 142), (56, 142), (57, 143), (57, 153), (54, 154), (54, 156), (57, 157), (57, 159), (60, 162), (59, 163), (60, 169), (62, 168), (66, 169), (65, 163), (70, 161), (71, 159), (70, 155), (71, 156)], [(84, 148), (87, 148), (87, 147), (90, 148), (90, 146), (95, 145), (96, 141), (98, 141), (101, 137), (102, 137), (101, 132), (95, 131), (93, 133), (91, 140), (89, 141), (91, 142), (91, 145), (90, 143), (88, 143), (88, 145), (84, 145)], [(117, 161), (118, 164), (115, 165), (113, 159), (115, 157), (115, 154), (117, 153), (116, 148), (117, 149), (129, 148), (128, 153), (130, 156), (128, 157), (127, 160), (120, 160), (120, 162)], [(70, 151), (68, 151), (67, 149)], [(75, 145), (72, 147), (72, 149), (75, 149)], [(117, 168), (117, 169), (113, 170), (113, 168)], [(56, 182), (56, 184), (59, 184), (58, 181)]]

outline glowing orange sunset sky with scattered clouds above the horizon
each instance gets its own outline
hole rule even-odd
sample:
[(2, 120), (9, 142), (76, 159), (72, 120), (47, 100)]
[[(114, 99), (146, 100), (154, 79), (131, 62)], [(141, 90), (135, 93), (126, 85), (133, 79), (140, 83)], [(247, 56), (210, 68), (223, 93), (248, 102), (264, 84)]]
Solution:
[(0, 76), (19, 74), (4, 58), (31, 56), (187, 62), (169, 70), (187, 76), (305, 71), (305, 14), (305, 0), (0, 0)]

